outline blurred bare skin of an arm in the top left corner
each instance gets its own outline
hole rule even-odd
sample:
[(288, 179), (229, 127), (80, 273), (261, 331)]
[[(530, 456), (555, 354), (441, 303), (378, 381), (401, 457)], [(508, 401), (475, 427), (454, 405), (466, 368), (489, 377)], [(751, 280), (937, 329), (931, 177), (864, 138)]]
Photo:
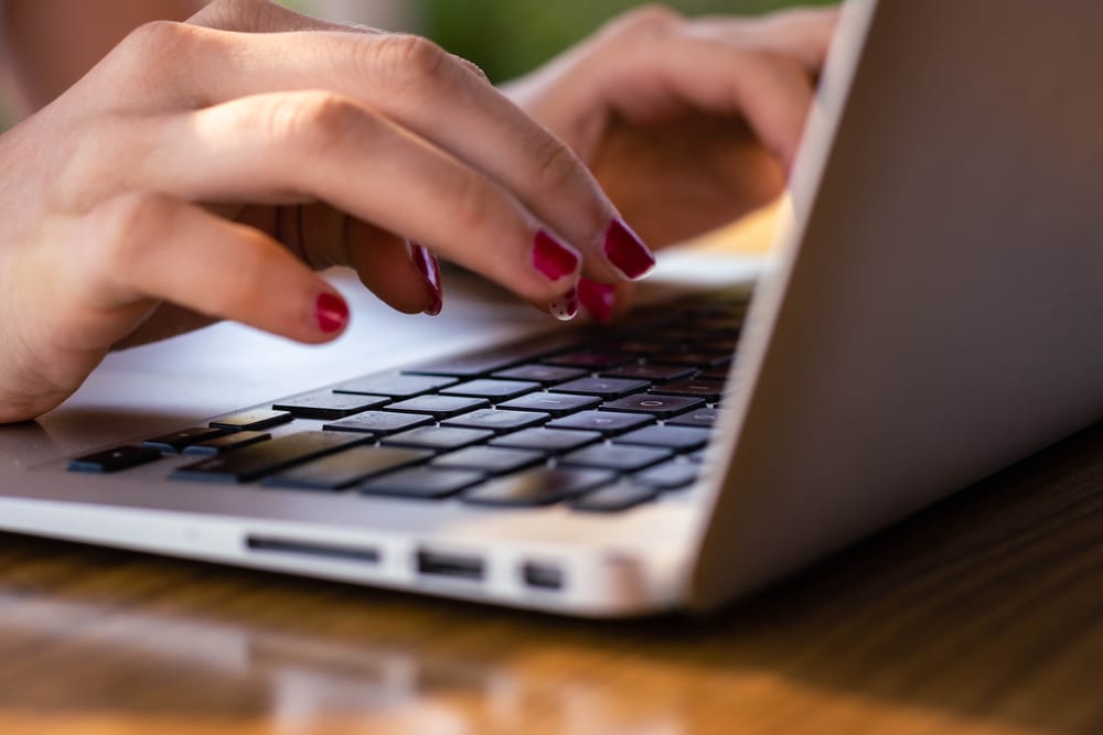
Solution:
[(184, 20), (203, 0), (0, 0), (0, 52), (20, 112), (67, 89), (127, 33), (152, 20)]

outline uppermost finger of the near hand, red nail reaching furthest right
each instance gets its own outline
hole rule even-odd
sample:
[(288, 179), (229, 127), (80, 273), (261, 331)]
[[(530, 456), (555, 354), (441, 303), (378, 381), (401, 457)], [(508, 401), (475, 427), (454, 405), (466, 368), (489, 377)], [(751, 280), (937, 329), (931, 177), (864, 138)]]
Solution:
[[(159, 28), (176, 34), (188, 75), (164, 104), (325, 89), (355, 99), (482, 172), (586, 257), (606, 280), (653, 263), (578, 158), (470, 65), (405, 34), (248, 34)], [(179, 64), (180, 62), (175, 62)], [(445, 114), (442, 114), (442, 111)]]

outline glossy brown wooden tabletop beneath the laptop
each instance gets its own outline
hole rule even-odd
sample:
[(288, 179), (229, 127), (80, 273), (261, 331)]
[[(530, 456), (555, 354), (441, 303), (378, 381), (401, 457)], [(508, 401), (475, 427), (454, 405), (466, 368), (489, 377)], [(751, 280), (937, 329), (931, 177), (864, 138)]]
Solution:
[(708, 619), (568, 620), (2, 536), (4, 732), (1091, 732), (1101, 480), (1096, 426)]

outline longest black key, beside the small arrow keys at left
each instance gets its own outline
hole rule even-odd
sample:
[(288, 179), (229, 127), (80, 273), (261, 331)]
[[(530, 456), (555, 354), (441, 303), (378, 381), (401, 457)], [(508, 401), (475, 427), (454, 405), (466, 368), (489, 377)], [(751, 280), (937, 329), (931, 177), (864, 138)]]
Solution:
[(371, 441), (371, 436), (332, 431), (304, 431), (288, 434), (244, 450), (219, 454), (185, 465), (172, 473), (173, 479), (212, 483), (248, 483), (292, 465), (347, 450)]

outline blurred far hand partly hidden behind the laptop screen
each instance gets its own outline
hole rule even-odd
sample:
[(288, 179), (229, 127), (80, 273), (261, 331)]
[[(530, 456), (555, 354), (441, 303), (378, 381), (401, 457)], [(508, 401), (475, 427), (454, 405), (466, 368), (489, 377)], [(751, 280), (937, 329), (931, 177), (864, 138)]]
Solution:
[[(505, 89), (592, 167), (647, 242), (677, 242), (782, 192), (836, 15), (685, 20), (649, 7)], [(580, 295), (611, 316), (611, 289), (583, 281)]]

